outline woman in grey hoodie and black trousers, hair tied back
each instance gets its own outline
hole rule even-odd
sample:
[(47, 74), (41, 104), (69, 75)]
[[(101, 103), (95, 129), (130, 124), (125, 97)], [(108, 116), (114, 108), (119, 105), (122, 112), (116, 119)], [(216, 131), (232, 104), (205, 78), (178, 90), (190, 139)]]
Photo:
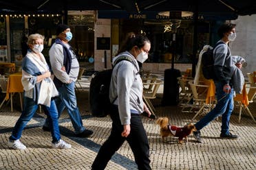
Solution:
[(151, 169), (149, 163), (149, 141), (143, 127), (140, 114), (151, 112), (142, 99), (143, 86), (139, 74), (138, 62), (145, 62), (151, 43), (145, 36), (132, 36), (127, 39), (125, 49), (113, 60), (126, 56), (132, 62), (122, 60), (113, 69), (109, 98), (113, 102), (110, 117), (113, 121), (111, 134), (100, 147), (92, 169), (105, 169), (111, 156), (127, 140), (134, 152), (138, 169)]

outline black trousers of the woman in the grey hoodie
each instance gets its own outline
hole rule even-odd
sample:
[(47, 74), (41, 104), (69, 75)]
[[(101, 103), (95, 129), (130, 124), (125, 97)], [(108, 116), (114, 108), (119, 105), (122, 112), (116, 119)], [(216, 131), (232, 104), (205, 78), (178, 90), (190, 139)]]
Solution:
[(143, 127), (141, 117), (139, 114), (131, 114), (131, 132), (127, 138), (122, 137), (123, 125), (120, 122), (118, 108), (114, 106), (113, 112), (110, 114), (112, 119), (112, 129), (109, 138), (103, 143), (98, 151), (92, 169), (105, 169), (107, 162), (115, 154), (116, 151), (122, 146), (122, 143), (127, 140), (131, 150), (134, 153), (135, 162), (138, 169), (151, 169), (149, 163), (149, 141), (147, 134)]

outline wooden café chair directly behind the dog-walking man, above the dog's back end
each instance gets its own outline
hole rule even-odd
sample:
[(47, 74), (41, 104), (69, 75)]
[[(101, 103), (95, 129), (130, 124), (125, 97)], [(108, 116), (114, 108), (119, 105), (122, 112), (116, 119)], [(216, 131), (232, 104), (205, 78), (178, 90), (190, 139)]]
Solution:
[(189, 110), (189, 112), (192, 112), (194, 108), (199, 108), (195, 116), (192, 118), (195, 119), (198, 114), (203, 112), (209, 112), (213, 106), (212, 104), (206, 104), (206, 97), (209, 86), (204, 84), (193, 84), (193, 81), (189, 82), (189, 86), (191, 86), (194, 101), (193, 107), (191, 108), (191, 110)]

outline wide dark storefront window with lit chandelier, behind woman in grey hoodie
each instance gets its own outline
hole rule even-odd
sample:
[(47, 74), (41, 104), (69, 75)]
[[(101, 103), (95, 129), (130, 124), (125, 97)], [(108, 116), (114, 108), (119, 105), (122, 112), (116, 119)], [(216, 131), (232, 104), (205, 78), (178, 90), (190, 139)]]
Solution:
[[(120, 20), (120, 40), (128, 32), (146, 34), (151, 40), (149, 59), (146, 62), (192, 63), (193, 56), (193, 21), (182, 20), (175, 31), (167, 30), (167, 21)], [(198, 23), (198, 51), (203, 45), (209, 44), (209, 23)]]

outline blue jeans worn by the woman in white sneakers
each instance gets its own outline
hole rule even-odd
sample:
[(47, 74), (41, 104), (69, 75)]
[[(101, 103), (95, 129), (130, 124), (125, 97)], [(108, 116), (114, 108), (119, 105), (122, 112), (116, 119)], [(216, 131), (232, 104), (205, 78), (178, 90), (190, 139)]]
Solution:
[[(25, 125), (27, 125), (28, 121), (32, 119), (38, 107), (39, 106), (34, 102), (33, 99), (24, 97), (24, 110), (22, 111), (21, 117), (19, 117), (17, 123), (14, 126), (14, 130), (10, 136), (11, 141), (15, 141), (21, 138), (21, 134), (25, 128)], [(61, 139), (61, 134), (58, 129), (58, 112), (54, 100), (51, 101), (51, 106), (45, 106), (45, 109), (47, 110), (45, 114), (49, 118), (49, 125), (51, 127), (52, 143), (55, 143)]]

